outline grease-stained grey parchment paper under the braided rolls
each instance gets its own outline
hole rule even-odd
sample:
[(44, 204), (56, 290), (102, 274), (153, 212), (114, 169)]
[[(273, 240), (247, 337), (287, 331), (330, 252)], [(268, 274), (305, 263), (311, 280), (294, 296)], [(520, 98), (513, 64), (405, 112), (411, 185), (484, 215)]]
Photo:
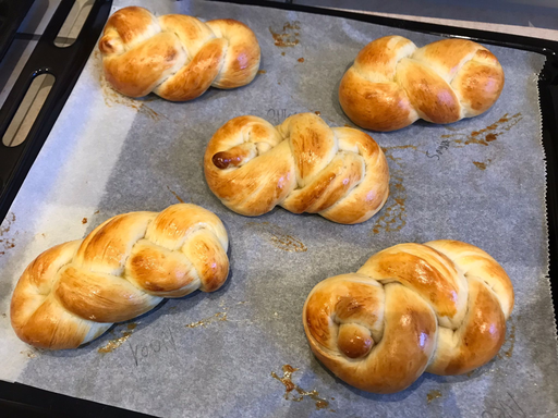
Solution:
[[(204, 180), (205, 146), (223, 123), (242, 114), (280, 123), (291, 113), (316, 111), (332, 126), (351, 125), (337, 88), (359, 50), (388, 34), (418, 46), (437, 37), (264, 8), (116, 1), (132, 3), (158, 14), (246, 23), (262, 46), (262, 72), (246, 87), (210, 89), (186, 103), (155, 96), (132, 100), (107, 87), (94, 51), (2, 224), (2, 379), (168, 417), (557, 413), (536, 87), (544, 57), (489, 47), (505, 69), (506, 86), (488, 112), (448, 126), (418, 122), (373, 133), (392, 180), (385, 208), (368, 222), (338, 225), (280, 208), (251, 219), (223, 207)], [(213, 210), (228, 229), (231, 275), (220, 291), (168, 300), (78, 349), (38, 352), (15, 337), (8, 317), (11, 292), (40, 251), (84, 236), (117, 213), (161, 210), (178, 200)], [(301, 314), (311, 288), (357, 270), (388, 246), (437, 238), (477, 245), (509, 273), (517, 298), (500, 354), (468, 376), (425, 373), (393, 395), (367, 394), (337, 380), (306, 343)], [(286, 365), (298, 370), (291, 376), (286, 368), (283, 374)], [(286, 393), (283, 376), (298, 389)]]

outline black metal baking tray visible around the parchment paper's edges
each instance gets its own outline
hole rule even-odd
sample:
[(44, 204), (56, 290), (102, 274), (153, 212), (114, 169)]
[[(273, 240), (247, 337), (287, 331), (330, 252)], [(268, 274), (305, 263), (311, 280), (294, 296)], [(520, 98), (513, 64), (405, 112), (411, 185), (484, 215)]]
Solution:
[[(550, 254), (549, 275), (553, 288), (557, 288), (558, 283), (556, 271), (558, 248), (556, 239), (558, 228), (558, 197), (556, 190), (556, 161), (558, 158), (558, 149), (557, 145), (554, 143), (554, 138), (558, 137), (558, 122), (556, 116), (558, 109), (558, 58), (556, 57), (558, 42), (507, 34), (400, 21), (389, 17), (329, 9), (318, 9), (292, 3), (246, 0), (233, 0), (229, 2), (339, 16), (433, 35), (462, 37), (483, 44), (529, 50), (544, 54), (547, 60), (541, 73), (538, 87), (543, 116), (543, 146), (545, 148), (547, 161), (547, 211)], [(74, 49), (73, 52), (71, 52), (73, 56), (64, 57), (64, 60), (70, 60), (69, 57), (71, 57), (70, 61), (65, 61), (66, 63), (72, 63), (72, 65), (66, 65), (66, 67), (71, 66), (72, 71), (68, 71), (63, 65), (60, 65), (61, 62), (64, 62), (63, 60), (60, 60), (61, 56), (54, 56), (56, 58), (52, 56), (51, 52), (53, 48), (51, 44), (56, 34), (58, 34), (58, 29), (62, 25), (65, 15), (70, 11), (72, 3), (72, 0), (62, 1), (52, 21), (47, 27), (45, 35), (39, 40), (36, 50), (27, 62), (22, 76), (9, 95), (3, 108), (0, 110), (0, 131), (3, 134), (11, 118), (15, 113), (26, 88), (35, 75), (38, 75), (41, 72), (51, 72), (57, 76), (57, 79), (68, 79), (68, 83), (59, 84), (59, 87), (60, 85), (63, 85), (60, 87), (60, 90), (54, 90), (54, 88), (52, 89), (44, 109), (35, 122), (35, 125), (29, 132), (27, 140), (22, 146), (15, 147), (17, 152), (10, 153), (5, 151), (8, 147), (0, 145), (0, 177), (3, 179), (3, 181), (0, 182), (0, 186), (2, 187), (0, 198), (0, 220), (4, 218), (35, 157), (38, 155), (40, 147), (48, 137), (65, 99), (70, 95), (85, 61), (89, 57), (111, 5), (111, 1), (108, 0), (97, 0), (95, 2), (92, 13), (85, 23), (85, 29), (82, 30), (78, 40), (73, 46)], [(13, 151), (14, 149), (11, 150)], [(14, 158), (14, 156), (16, 156), (16, 158)], [(553, 302), (556, 315), (556, 308), (558, 307), (558, 297), (556, 292), (553, 292)], [(2, 398), (0, 401), (0, 407), (3, 407), (9, 414), (14, 416), (22, 416), (22, 414), (34, 416), (145, 416), (83, 399), (53, 394), (17, 383), (10, 384), (0, 382), (0, 398)]]

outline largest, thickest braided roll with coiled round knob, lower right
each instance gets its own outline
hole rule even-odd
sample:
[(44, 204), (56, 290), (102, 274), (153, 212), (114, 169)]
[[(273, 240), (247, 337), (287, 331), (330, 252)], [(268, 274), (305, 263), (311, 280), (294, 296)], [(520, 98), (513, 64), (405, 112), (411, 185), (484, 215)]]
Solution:
[(318, 283), (303, 310), (316, 357), (363, 391), (393, 393), (424, 372), (462, 374), (506, 336), (513, 287), (482, 249), (459, 241), (400, 244), (356, 272)]

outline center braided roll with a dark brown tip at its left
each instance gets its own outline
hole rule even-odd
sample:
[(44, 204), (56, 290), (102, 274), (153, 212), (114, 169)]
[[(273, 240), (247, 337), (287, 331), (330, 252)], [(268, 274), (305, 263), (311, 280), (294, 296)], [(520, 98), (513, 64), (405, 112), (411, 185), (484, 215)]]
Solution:
[(329, 127), (314, 113), (278, 126), (256, 116), (232, 119), (209, 140), (204, 168), (222, 204), (248, 217), (278, 205), (359, 223), (380, 210), (389, 193), (388, 163), (374, 139)]

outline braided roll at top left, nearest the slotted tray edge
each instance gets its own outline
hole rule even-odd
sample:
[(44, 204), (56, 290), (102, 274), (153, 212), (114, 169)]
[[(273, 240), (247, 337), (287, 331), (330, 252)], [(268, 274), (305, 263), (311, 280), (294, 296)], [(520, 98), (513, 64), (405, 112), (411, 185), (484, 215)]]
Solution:
[(155, 17), (137, 7), (109, 17), (99, 50), (108, 82), (132, 97), (154, 91), (167, 100), (192, 100), (209, 86), (244, 86), (259, 67), (259, 45), (243, 23)]

